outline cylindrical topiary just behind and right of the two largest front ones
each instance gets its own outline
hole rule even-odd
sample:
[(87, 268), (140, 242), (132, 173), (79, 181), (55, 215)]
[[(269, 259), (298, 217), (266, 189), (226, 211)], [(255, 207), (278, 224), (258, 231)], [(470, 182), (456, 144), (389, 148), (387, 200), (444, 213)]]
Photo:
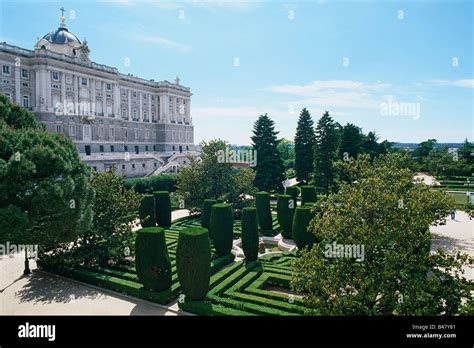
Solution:
[(210, 227), (217, 255), (228, 255), (234, 238), (234, 214), (230, 204), (219, 203), (212, 206)]

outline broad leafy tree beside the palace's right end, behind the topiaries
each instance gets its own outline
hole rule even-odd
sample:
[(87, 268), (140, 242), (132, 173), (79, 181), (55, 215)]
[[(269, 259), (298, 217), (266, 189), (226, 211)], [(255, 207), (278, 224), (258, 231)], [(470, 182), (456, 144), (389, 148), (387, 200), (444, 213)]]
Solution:
[(200, 159), (190, 158), (190, 165), (178, 174), (177, 192), (185, 198), (186, 208), (197, 212), (205, 199), (217, 198), (229, 201), (237, 210), (250, 204), (256, 191), (254, 171), (234, 169), (231, 163), (221, 161), (219, 153), (227, 147), (223, 140), (203, 141), (201, 147)]

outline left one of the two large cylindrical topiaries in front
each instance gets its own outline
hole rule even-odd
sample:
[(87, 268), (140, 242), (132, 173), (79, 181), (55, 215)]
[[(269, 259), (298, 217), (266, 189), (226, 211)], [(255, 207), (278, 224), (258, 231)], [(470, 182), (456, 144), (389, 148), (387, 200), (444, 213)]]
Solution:
[(135, 268), (145, 288), (162, 291), (171, 286), (171, 262), (163, 228), (146, 227), (137, 232)]

